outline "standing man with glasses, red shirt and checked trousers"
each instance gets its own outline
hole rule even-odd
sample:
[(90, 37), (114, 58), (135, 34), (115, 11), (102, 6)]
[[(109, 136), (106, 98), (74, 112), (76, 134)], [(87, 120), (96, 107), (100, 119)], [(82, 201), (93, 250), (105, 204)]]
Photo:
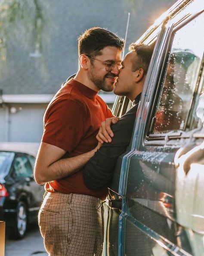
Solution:
[(107, 187), (88, 189), (83, 166), (97, 149), (96, 134), (113, 117), (99, 90), (112, 91), (124, 40), (91, 28), (78, 39), (79, 70), (56, 93), (44, 115), (34, 176), (45, 183), (39, 226), (50, 256), (101, 256)]

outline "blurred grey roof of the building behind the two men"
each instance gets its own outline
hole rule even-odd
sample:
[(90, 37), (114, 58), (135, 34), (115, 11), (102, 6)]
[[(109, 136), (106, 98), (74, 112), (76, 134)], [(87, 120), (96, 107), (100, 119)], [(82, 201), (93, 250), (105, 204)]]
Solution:
[[(19, 97), (19, 100), (24, 101), (31, 94), (36, 94), (33, 98), (36, 101), (45, 101), (54, 95), (67, 77), (78, 69), (77, 37), (85, 29), (100, 26), (124, 38), (130, 12), (126, 43), (128, 46), (176, 2), (154, 0), (152, 4), (152, 0), (43, 1), (46, 2), (50, 19), (50, 42), (44, 48), (47, 49), (44, 55), (46, 66), (40, 62), (36, 49), (25, 50), (22, 47), (22, 38), (19, 41), (12, 38), (12, 41), (7, 42), (7, 68), (6, 73), (0, 77), (0, 89), (3, 90), (5, 100), (12, 100), (12, 94), (15, 95), (15, 100)], [(43, 69), (47, 72), (43, 73)], [(20, 94), (25, 97), (21, 98)], [(41, 94), (43, 96), (39, 96)], [(108, 96), (105, 97), (108, 99)]]

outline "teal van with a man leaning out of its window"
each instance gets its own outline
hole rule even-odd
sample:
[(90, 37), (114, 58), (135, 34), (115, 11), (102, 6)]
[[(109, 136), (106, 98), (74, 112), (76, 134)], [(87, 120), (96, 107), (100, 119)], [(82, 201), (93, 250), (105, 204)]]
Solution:
[[(140, 42), (155, 48), (110, 186), (105, 255), (204, 256), (204, 1), (179, 0)], [(118, 96), (114, 115), (130, 108)]]

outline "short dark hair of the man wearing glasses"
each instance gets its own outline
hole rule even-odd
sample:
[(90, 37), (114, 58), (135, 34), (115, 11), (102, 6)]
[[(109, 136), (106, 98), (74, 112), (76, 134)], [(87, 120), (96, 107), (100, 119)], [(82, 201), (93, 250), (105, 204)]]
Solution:
[(101, 55), (100, 51), (106, 46), (114, 46), (122, 51), (124, 40), (107, 29), (99, 27), (87, 29), (78, 37), (79, 55), (87, 54), (93, 57)]

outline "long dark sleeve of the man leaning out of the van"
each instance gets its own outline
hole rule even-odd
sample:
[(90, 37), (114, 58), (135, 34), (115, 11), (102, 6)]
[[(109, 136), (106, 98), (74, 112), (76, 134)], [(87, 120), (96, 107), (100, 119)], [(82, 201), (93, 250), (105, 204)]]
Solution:
[(87, 188), (98, 189), (111, 181), (117, 157), (130, 144), (135, 117), (136, 110), (132, 109), (117, 124), (111, 126), (114, 133), (112, 142), (104, 143), (83, 170), (83, 180)]

